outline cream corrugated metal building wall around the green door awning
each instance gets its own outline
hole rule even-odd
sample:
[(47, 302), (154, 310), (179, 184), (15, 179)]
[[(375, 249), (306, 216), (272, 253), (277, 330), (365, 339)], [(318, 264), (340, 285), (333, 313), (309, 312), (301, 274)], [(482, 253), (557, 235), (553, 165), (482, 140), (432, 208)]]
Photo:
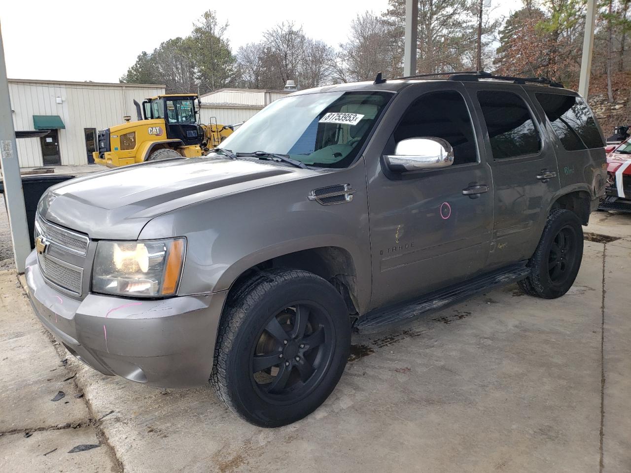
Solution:
[[(16, 130), (32, 130), (33, 115), (59, 115), (66, 129), (58, 130), (62, 165), (86, 164), (85, 128), (105, 129), (136, 119), (134, 98), (160, 95), (160, 86), (9, 79), (9, 96)], [(61, 97), (62, 103), (57, 103)], [(39, 138), (18, 139), (20, 166), (42, 166)]]

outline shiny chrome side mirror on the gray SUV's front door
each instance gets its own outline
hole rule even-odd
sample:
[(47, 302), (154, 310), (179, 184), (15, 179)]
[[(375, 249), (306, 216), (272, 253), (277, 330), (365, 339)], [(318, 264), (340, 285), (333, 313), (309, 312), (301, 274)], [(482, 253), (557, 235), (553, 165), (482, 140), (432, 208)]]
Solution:
[(399, 141), (394, 155), (384, 159), (392, 172), (443, 168), (454, 163), (454, 149), (442, 138), (408, 138)]

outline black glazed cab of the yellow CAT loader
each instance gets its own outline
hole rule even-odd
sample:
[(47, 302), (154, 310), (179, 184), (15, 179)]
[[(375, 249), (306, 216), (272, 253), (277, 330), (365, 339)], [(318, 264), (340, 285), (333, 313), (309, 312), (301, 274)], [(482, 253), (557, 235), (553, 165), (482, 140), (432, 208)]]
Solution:
[(197, 123), (197, 98), (197, 94), (148, 98), (143, 102), (144, 119), (163, 119), (168, 139), (180, 139), (185, 145), (200, 144), (203, 134)]

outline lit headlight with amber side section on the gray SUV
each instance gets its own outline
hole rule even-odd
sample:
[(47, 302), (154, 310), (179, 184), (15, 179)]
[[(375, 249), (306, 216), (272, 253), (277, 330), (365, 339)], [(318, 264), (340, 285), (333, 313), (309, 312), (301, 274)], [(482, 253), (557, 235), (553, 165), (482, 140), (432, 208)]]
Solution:
[(92, 290), (123, 296), (175, 294), (184, 263), (186, 240), (98, 242)]

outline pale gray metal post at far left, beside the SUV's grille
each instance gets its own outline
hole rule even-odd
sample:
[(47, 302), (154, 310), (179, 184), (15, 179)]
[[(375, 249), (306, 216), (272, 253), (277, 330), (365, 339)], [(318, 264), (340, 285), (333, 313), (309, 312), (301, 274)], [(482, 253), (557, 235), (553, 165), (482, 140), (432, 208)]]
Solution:
[(27, 211), (24, 207), (18, 147), (15, 143), (15, 129), (13, 129), (11, 113), (0, 26), (0, 163), (4, 182), (4, 202), (6, 202), (13, 242), (13, 257), (18, 272), (24, 272), (27, 256), (31, 252), (31, 244), (28, 238)]

